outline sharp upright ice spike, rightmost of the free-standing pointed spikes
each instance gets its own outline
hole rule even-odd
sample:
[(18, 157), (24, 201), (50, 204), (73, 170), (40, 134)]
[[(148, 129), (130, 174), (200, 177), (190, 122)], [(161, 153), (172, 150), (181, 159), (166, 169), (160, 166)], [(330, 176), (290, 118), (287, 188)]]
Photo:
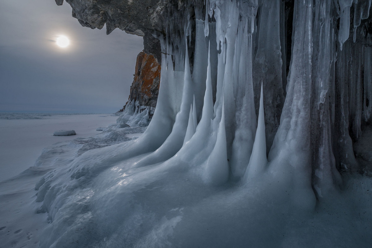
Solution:
[(256, 137), (254, 138), (252, 155), (249, 159), (248, 169), (244, 175), (247, 181), (264, 172), (267, 164), (266, 157), (266, 136), (265, 136), (265, 115), (263, 110), (263, 84), (261, 83), (260, 110), (257, 121)]

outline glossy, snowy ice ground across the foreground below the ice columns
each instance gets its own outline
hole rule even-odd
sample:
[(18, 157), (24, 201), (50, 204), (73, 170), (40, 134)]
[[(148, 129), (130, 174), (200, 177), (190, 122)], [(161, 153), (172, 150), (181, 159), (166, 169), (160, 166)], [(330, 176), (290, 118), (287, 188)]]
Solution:
[(369, 177), (345, 176), (345, 188), (309, 212), (290, 204), (293, 187), (285, 176), (204, 183), (199, 164), (204, 149), (150, 166), (139, 162), (149, 153), (125, 158), (136, 143), (145, 144), (132, 140), (145, 128), (113, 126), (46, 147), (35, 167), (0, 183), (0, 247), (369, 247), (372, 242)]

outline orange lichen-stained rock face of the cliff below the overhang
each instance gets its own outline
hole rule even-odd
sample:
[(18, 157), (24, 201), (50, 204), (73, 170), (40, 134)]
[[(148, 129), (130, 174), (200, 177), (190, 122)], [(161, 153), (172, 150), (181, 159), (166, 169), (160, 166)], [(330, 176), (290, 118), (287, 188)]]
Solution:
[[(155, 107), (160, 85), (161, 65), (153, 55), (144, 51), (137, 55), (137, 62), (128, 102), (133, 99), (141, 106)], [(127, 102), (127, 103), (128, 103)]]

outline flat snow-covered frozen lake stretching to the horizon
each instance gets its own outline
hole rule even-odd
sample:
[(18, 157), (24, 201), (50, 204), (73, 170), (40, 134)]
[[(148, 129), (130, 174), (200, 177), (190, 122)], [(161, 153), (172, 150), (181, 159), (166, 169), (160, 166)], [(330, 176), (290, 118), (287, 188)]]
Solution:
[[(44, 147), (101, 133), (97, 127), (116, 123), (118, 118), (111, 114), (20, 113), (1, 113), (0, 117), (0, 182), (33, 166)], [(71, 129), (76, 135), (53, 136), (54, 131)]]

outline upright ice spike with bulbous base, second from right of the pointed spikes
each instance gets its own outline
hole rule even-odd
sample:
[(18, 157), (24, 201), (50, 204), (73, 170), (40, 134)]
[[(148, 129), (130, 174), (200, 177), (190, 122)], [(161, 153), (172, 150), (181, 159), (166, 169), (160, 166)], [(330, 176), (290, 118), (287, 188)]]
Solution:
[[(223, 102), (222, 100), (222, 103)], [(228, 180), (229, 166), (226, 149), (225, 110), (224, 105), (222, 105), (222, 115), (218, 126), (217, 141), (206, 166), (207, 182), (212, 185), (221, 185)]]

